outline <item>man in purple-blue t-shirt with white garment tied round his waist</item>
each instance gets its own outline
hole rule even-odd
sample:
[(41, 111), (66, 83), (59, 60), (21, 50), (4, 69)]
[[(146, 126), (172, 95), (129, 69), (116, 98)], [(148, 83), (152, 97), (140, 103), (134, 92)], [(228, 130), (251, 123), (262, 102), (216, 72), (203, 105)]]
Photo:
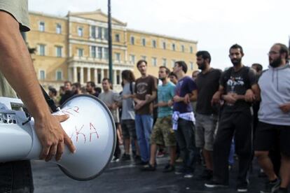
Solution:
[(181, 169), (175, 173), (184, 174), (184, 178), (192, 178), (195, 169), (195, 118), (190, 102), (196, 101), (198, 90), (193, 79), (186, 76), (187, 65), (184, 61), (175, 62), (173, 72), (177, 75), (178, 83), (173, 98), (172, 123), (183, 159)]

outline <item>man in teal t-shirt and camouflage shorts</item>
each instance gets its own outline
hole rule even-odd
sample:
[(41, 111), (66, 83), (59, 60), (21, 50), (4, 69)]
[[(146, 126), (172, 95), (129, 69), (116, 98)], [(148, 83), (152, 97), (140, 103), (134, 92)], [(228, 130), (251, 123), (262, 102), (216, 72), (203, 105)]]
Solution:
[(170, 163), (165, 166), (163, 172), (174, 171), (176, 155), (176, 139), (172, 130), (172, 99), (174, 96), (175, 85), (168, 80), (170, 70), (165, 66), (159, 67), (158, 76), (162, 85), (158, 86), (158, 103), (154, 105), (158, 108), (158, 118), (154, 124), (151, 135), (150, 162), (145, 165), (143, 171), (156, 170), (157, 145), (165, 145), (170, 149)]

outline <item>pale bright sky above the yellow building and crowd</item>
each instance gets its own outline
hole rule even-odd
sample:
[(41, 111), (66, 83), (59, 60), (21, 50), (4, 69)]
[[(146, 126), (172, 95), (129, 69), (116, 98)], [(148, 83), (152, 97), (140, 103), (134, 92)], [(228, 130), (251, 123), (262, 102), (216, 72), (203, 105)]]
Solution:
[[(64, 16), (101, 8), (106, 0), (29, 0), (29, 10)], [(231, 66), (228, 48), (239, 43), (243, 62), (268, 66), (267, 52), (273, 43), (288, 46), (289, 0), (111, 0), (112, 16), (130, 29), (166, 34), (198, 41), (198, 50), (208, 50), (212, 66)]]

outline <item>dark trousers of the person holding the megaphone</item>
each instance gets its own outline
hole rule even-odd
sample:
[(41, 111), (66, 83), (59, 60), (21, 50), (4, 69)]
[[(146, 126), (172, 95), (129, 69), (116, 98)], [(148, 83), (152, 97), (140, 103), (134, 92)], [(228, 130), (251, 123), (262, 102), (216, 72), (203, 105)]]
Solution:
[(32, 168), (29, 161), (0, 163), (0, 192), (34, 192)]

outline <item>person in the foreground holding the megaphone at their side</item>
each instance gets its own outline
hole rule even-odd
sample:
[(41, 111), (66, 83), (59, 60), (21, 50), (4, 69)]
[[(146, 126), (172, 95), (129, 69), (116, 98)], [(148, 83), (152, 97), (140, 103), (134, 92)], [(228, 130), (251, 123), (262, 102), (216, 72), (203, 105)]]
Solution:
[[(17, 97), (16, 93), (20, 96), (35, 120), (35, 131), (42, 145), (39, 158), (59, 160), (64, 144), (71, 152), (75, 148), (60, 125), (68, 116), (51, 115), (39, 87), (32, 59), (20, 34), (20, 31), (29, 31), (28, 18), (27, 1), (0, 0), (0, 96)], [(0, 192), (34, 191), (29, 161), (0, 163), (0, 171)]]

